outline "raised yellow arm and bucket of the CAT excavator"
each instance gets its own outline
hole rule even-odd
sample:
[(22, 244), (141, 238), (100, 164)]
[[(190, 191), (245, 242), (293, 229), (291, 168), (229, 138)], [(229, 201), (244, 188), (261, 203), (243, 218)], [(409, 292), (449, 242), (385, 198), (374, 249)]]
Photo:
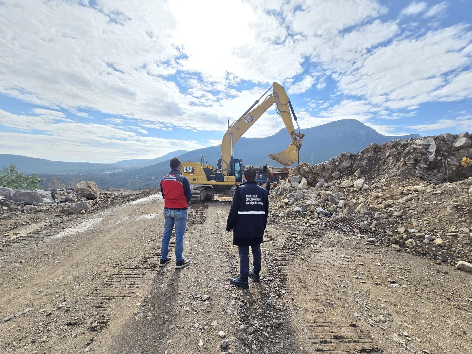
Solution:
[[(259, 100), (261, 100), (264, 95), (269, 92), (273, 87), (273, 92), (268, 95), (264, 101), (259, 105)], [(298, 153), (302, 147), (302, 140), (305, 136), (301, 134), (300, 126), (298, 126), (298, 121), (293, 110), (290, 99), (285, 92), (285, 89), (278, 83), (274, 82), (272, 86), (261, 96), (259, 100), (256, 100), (253, 105), (244, 112), (244, 114), (237, 119), (233, 124), (228, 127), (225, 135), (223, 136), (223, 141), (221, 143), (221, 169), (223, 173), (228, 174), (228, 168), (230, 168), (230, 159), (231, 156), (234, 156), (234, 147), (239, 138), (249, 129), (256, 121), (261, 117), (261, 115), (272, 106), (272, 104), (277, 104), (277, 111), (284, 121), (285, 127), (287, 128), (288, 134), (292, 139), (288, 148), (278, 152), (276, 154), (269, 154), (269, 157), (272, 160), (276, 160), (284, 166), (290, 166), (296, 162), (298, 159)], [(257, 105), (257, 106), (256, 106)], [(254, 106), (256, 106), (254, 108)], [(295, 127), (292, 121), (292, 116), (290, 111), (294, 116), (296, 125), (298, 127), (298, 133), (295, 132)]]

